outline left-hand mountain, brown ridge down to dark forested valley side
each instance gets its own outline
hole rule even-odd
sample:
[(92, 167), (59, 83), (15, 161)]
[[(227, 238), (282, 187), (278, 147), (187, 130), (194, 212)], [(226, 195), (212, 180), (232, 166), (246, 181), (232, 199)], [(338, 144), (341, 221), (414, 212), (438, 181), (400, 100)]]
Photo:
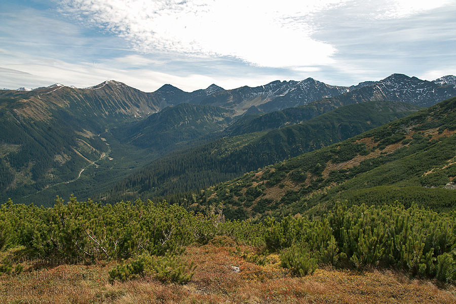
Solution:
[(78, 178), (110, 150), (101, 133), (158, 109), (150, 94), (114, 81), (0, 92), (0, 194), (23, 187), (16, 196), (25, 196)]

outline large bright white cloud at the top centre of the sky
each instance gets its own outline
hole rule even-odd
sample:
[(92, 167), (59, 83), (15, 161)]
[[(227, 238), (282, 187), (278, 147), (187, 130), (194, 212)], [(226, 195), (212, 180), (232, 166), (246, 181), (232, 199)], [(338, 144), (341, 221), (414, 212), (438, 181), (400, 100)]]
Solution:
[(336, 51), (311, 35), (311, 14), (341, 0), (64, 0), (62, 10), (130, 41), (140, 52), (232, 56), (258, 66), (333, 63)]

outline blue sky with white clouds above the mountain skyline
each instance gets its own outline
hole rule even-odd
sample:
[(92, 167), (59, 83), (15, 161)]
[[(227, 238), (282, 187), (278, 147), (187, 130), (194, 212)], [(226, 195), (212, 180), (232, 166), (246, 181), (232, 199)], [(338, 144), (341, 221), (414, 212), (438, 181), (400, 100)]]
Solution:
[(456, 74), (456, 0), (0, 0), (0, 88)]

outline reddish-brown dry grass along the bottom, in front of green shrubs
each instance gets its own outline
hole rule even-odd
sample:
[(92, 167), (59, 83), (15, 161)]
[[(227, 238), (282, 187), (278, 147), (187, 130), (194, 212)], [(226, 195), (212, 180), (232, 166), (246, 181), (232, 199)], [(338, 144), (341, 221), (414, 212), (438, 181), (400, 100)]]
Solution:
[[(328, 268), (292, 278), (278, 266), (276, 255), (271, 256), (272, 264), (258, 266), (230, 253), (234, 249), (188, 247), (182, 258), (195, 261), (198, 268), (186, 285), (163, 284), (152, 278), (110, 284), (108, 271), (114, 263), (26, 265), (24, 273), (32, 276), (89, 273), (93, 278), (36, 280), (3, 274), (0, 303), (456, 303), (454, 286), (439, 288), (430, 281), (377, 270), (359, 273)], [(242, 246), (241, 250), (253, 248)], [(13, 291), (15, 295), (8, 295)]]

